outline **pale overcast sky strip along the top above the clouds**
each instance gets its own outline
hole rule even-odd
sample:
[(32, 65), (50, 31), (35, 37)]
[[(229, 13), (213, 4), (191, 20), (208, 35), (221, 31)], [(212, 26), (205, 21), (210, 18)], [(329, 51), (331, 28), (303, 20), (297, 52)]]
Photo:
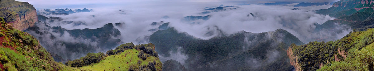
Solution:
[(144, 8), (165, 6), (219, 6), (273, 2), (336, 2), (338, 0), (16, 0), (33, 4), (36, 9), (56, 8)]

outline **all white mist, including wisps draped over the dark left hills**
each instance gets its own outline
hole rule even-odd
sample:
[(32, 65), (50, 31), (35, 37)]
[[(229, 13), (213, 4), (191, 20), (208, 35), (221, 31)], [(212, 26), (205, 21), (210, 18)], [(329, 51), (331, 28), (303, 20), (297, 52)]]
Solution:
[[(309, 41), (331, 41), (340, 39), (344, 35), (348, 34), (350, 28), (345, 25), (338, 25), (333, 30), (319, 30), (316, 31), (315, 24), (323, 24), (328, 20), (335, 18), (329, 15), (320, 15), (313, 10), (328, 9), (331, 5), (322, 6), (309, 6), (309, 7), (293, 7), (295, 4), (288, 4), (282, 6), (266, 6), (259, 4), (249, 5), (237, 5), (234, 3), (224, 3), (224, 6), (230, 9), (221, 10), (217, 12), (211, 12), (202, 14), (202, 12), (210, 11), (205, 10), (205, 7), (214, 8), (218, 7), (220, 2), (194, 2), (194, 1), (170, 1), (160, 4), (149, 4), (144, 6), (104, 6), (94, 7), (93, 12), (79, 12), (69, 15), (44, 15), (46, 17), (60, 17), (62, 21), (47, 22), (48, 26), (51, 27), (62, 27), (66, 30), (74, 29), (95, 29), (101, 28), (108, 23), (120, 23), (120, 25), (114, 26), (114, 28), (120, 31), (119, 37), (112, 37), (114, 39), (119, 38), (122, 43), (133, 42), (134, 44), (146, 44), (148, 36), (156, 31), (149, 31), (151, 29), (158, 28), (161, 24), (151, 25), (152, 22), (170, 22), (169, 27), (174, 27), (178, 33), (186, 33), (193, 37), (208, 40), (217, 36), (229, 36), (235, 34), (238, 31), (246, 31), (251, 33), (263, 33), (269, 31), (275, 31), (277, 29), (283, 29), (289, 33), (295, 35), (303, 43)], [(187, 2), (187, 3), (184, 3)], [(165, 4), (165, 5), (161, 5)], [(69, 8), (69, 7), (67, 7)], [(83, 7), (82, 7), (83, 8)], [(82, 9), (80, 8), (80, 9)], [(235, 8), (235, 9), (234, 9)], [(300, 10), (292, 10), (298, 8)], [(50, 9), (50, 8), (46, 8)], [(65, 9), (65, 8), (63, 8)], [(70, 9), (70, 8), (69, 8)], [(73, 8), (74, 9), (74, 8)], [(250, 13), (253, 13), (252, 16)], [(207, 20), (194, 20), (184, 21), (186, 16), (207, 16)], [(167, 18), (165, 16), (168, 16)], [(68, 24), (64, 21), (82, 22), (83, 24)], [(193, 24), (191, 24), (193, 23)], [(36, 25), (42, 27), (43, 25)], [(59, 33), (53, 33), (52, 30), (47, 30), (52, 35), (61, 35)], [(32, 33), (32, 32), (31, 32)], [(35, 35), (34, 35), (35, 36)], [(39, 35), (37, 35), (39, 36)], [(83, 42), (84, 44), (92, 45), (92, 51), (89, 52), (105, 52), (108, 49), (101, 49), (99, 46), (95, 46), (102, 42), (92, 41), (90, 39), (82, 38), (71, 38), (69, 33), (63, 34), (58, 37), (58, 41), (50, 40), (49, 35), (40, 35), (43, 37), (41, 44), (47, 50), (61, 54), (64, 58), (77, 59), (85, 55), (85, 53), (71, 53), (66, 52), (66, 46), (61, 45), (59, 41), (65, 42)], [(40, 39), (39, 39), (40, 40)], [(257, 41), (245, 41), (248, 45), (251, 42)], [(60, 45), (54, 47), (55, 45)], [(274, 44), (276, 45), (276, 44)], [(90, 46), (91, 47), (91, 46)], [(112, 47), (110, 49), (114, 49)], [(157, 47), (156, 47), (157, 49)], [(243, 50), (251, 48), (243, 46)], [(79, 50), (79, 49), (77, 49)], [(63, 55), (64, 53), (70, 53), (69, 55)], [(185, 65), (185, 60), (188, 59), (188, 55), (181, 52), (178, 49), (174, 52), (169, 52), (170, 56), (160, 56), (161, 61), (174, 59)], [(271, 60), (278, 58), (279, 51), (267, 50), (267, 57)], [(259, 63), (256, 58), (248, 58), (248, 64)], [(258, 65), (252, 65), (252, 67), (258, 67)]]

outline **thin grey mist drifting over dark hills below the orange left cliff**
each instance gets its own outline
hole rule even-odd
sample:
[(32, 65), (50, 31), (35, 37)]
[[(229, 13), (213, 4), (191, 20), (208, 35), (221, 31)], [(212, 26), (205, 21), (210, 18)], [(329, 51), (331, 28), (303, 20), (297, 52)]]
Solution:
[[(26, 32), (38, 38), (40, 44), (49, 52), (58, 54), (64, 59), (77, 59), (89, 52), (104, 52), (97, 46), (97, 41), (92, 41), (94, 38), (76, 38), (67, 31), (62, 31), (63, 33), (53, 32), (53, 29), (46, 27), (42, 22), (38, 22), (36, 26), (39, 27), (39, 29), (34, 29), (37, 31), (27, 30)], [(77, 44), (76, 46), (82, 47), (69, 47), (71, 44)], [(84, 49), (85, 46), (91, 49)]]

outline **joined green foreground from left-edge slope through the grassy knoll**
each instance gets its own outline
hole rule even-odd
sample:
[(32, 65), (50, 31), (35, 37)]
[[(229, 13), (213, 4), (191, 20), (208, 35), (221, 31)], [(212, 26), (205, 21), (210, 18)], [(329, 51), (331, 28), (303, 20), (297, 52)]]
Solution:
[[(103, 71), (129, 69), (135, 71), (161, 71), (162, 63), (154, 52), (154, 45), (132, 43), (122, 44), (112, 54), (88, 53), (87, 56), (66, 64), (55, 62), (40, 44), (39, 41), (28, 33), (15, 30), (12, 24), (1, 20), (0, 27), (0, 71)], [(131, 47), (132, 48), (126, 48)], [(125, 47), (125, 48), (124, 48)], [(140, 56), (141, 55), (141, 56)], [(74, 64), (75, 63), (75, 64)], [(69, 65), (70, 64), (70, 65)], [(66, 66), (68, 65), (68, 66)], [(80, 65), (79, 68), (71, 66)], [(82, 67), (83, 66), (83, 67)]]

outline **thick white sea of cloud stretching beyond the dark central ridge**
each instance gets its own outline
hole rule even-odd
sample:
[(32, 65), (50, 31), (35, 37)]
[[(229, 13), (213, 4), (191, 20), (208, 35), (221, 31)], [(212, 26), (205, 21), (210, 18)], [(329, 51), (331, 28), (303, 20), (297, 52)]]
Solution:
[[(46, 1), (46, 0), (41, 0)], [(39, 1), (39, 2), (41, 2)], [(70, 1), (70, 0), (67, 0)], [(100, 0), (101, 1), (101, 0)], [(100, 2), (97, 1), (97, 2)], [(93, 12), (80, 12), (70, 15), (47, 15), (47, 17), (55, 16), (61, 17), (63, 21), (83, 22), (85, 25), (73, 25), (64, 23), (50, 23), (50, 26), (61, 26), (67, 30), (84, 29), (84, 28), (100, 28), (108, 23), (121, 23), (121, 26), (115, 26), (120, 31), (122, 42), (134, 44), (147, 43), (147, 37), (155, 31), (148, 31), (150, 29), (158, 28), (162, 24), (150, 25), (152, 22), (170, 22), (170, 27), (180, 32), (186, 32), (189, 35), (201, 39), (209, 39), (217, 36), (224, 36), (237, 33), (238, 31), (247, 31), (252, 33), (263, 33), (268, 31), (275, 31), (279, 28), (287, 30), (291, 34), (298, 37), (304, 43), (315, 41), (318, 38), (325, 38), (327, 40), (335, 40), (343, 37), (348, 33), (347, 28), (335, 28), (331, 30), (315, 31), (315, 23), (322, 24), (325, 21), (334, 18), (328, 15), (320, 15), (314, 13), (313, 10), (327, 9), (331, 5), (324, 6), (309, 6), (309, 7), (293, 7), (293, 6), (265, 6), (258, 4), (241, 5), (237, 9), (225, 10), (220, 12), (212, 12), (205, 15), (200, 14), (204, 12), (204, 7), (219, 6), (221, 1), (213, 1), (206, 3), (205, 1), (195, 2), (196, 0), (175, 1), (175, 0), (162, 0), (139, 3), (138, 1), (119, 1), (117, 3), (128, 2), (130, 6), (104, 6), (95, 7)], [(207, 0), (208, 1), (208, 0)], [(56, 2), (56, 1), (54, 1)], [(60, 2), (60, 1), (57, 1)], [(61, 1), (62, 2), (62, 1)], [(77, 3), (72, 4), (79, 4)], [(88, 4), (95, 4), (95, 0), (87, 1)], [(152, 3), (154, 2), (154, 3)], [(187, 3), (184, 3), (187, 2)], [(30, 2), (31, 3), (31, 2)], [(50, 1), (46, 3), (53, 4)], [(111, 1), (103, 2), (110, 4)], [(134, 4), (129, 4), (134, 3)], [(31, 3), (32, 4), (32, 3)], [(64, 4), (64, 3), (62, 3)], [(70, 4), (70, 3), (68, 3)], [(147, 5), (145, 5), (147, 4)], [(196, 5), (195, 5), (196, 4)], [(234, 5), (234, 2), (225, 3), (224, 5)], [(59, 5), (59, 4), (57, 4)], [(134, 5), (134, 6), (131, 6)], [(144, 6), (141, 6), (144, 5)], [(140, 7), (138, 7), (140, 6)], [(235, 5), (234, 5), (235, 6)], [(299, 8), (300, 10), (291, 10)], [(254, 16), (248, 16), (253, 13)], [(95, 17), (93, 17), (94, 15)], [(182, 21), (185, 16), (206, 16), (210, 15), (210, 19), (196, 20), (191, 22), (200, 22), (199, 24), (190, 24), (191, 22)], [(169, 18), (163, 18), (168, 16)], [(335, 32), (340, 30), (341, 32)], [(209, 33), (207, 35), (207, 33)], [(67, 36), (67, 35), (66, 35)], [(253, 41), (248, 41), (253, 42)], [(47, 43), (47, 42), (46, 42)], [(95, 43), (95, 42), (92, 42)], [(66, 46), (65, 46), (66, 47)], [(59, 49), (59, 48), (56, 48)], [(64, 49), (64, 45), (61, 46)], [(157, 48), (156, 48), (157, 49)], [(248, 48), (243, 48), (248, 49)], [(105, 51), (105, 50), (104, 50)], [(269, 50), (272, 51), (272, 50)], [(175, 56), (169, 59), (186, 57), (182, 53), (175, 52)], [(269, 57), (275, 56), (277, 52), (269, 53)], [(161, 57), (160, 58), (164, 58)], [(165, 57), (166, 58), (166, 57)], [(166, 60), (166, 59), (165, 59)], [(179, 62), (184, 59), (175, 59)], [(254, 60), (254, 59), (251, 59)], [(256, 61), (249, 61), (257, 63)], [(183, 62), (181, 62), (183, 63)], [(256, 66), (254, 66), (256, 67)]]

